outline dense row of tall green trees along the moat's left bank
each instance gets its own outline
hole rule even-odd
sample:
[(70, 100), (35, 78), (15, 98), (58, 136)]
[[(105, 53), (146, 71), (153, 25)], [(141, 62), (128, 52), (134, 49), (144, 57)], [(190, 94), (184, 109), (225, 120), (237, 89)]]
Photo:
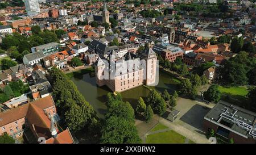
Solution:
[(53, 87), (58, 114), (72, 131), (85, 127), (91, 129), (97, 124), (99, 119), (96, 111), (65, 73), (53, 67), (49, 71), (48, 81)]

